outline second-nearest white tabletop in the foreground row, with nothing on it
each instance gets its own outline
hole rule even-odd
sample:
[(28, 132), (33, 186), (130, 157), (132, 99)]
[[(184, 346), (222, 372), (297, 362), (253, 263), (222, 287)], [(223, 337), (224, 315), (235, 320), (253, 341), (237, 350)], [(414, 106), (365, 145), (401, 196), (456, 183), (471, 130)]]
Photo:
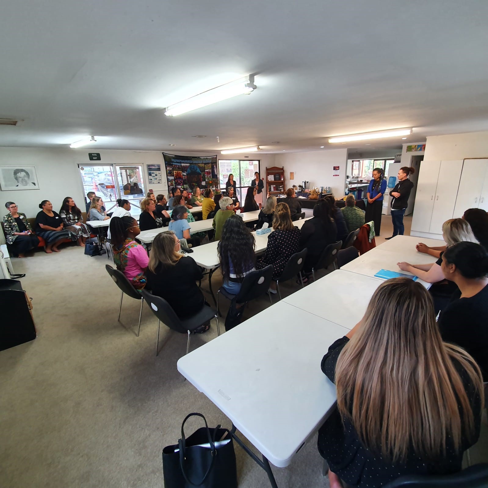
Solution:
[(352, 329), (363, 318), (369, 300), (383, 281), (344, 271), (344, 268), (337, 269), (283, 301)]

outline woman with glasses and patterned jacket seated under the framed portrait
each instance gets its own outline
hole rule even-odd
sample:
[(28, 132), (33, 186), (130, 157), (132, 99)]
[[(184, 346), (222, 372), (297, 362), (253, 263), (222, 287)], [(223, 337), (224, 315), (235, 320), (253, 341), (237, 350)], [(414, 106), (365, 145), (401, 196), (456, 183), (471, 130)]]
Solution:
[(14, 202), (7, 202), (5, 207), (9, 212), (3, 217), (5, 239), (19, 258), (25, 258), (27, 251), (39, 245), (39, 238), (34, 234), (25, 214), (18, 212), (18, 205)]

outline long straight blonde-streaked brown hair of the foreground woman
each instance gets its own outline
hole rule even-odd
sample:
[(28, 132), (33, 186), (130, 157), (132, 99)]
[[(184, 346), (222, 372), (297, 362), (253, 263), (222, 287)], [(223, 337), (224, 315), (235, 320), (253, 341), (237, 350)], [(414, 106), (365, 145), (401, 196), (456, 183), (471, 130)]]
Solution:
[(447, 437), (459, 450), (461, 434), (474, 434), (474, 415), (481, 415), (471, 410), (456, 362), (483, 403), (480, 368), (466, 351), (442, 341), (428, 291), (408, 278), (388, 280), (337, 360), (339, 412), (386, 459), (405, 460), (413, 447), (438, 460)]

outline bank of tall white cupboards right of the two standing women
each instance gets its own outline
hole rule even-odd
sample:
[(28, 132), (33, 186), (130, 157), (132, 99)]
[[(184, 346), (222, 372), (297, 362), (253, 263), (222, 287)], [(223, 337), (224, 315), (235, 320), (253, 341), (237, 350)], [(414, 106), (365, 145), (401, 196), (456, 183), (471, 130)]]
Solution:
[(488, 159), (423, 161), (410, 234), (437, 237), (445, 221), (468, 208), (488, 212)]

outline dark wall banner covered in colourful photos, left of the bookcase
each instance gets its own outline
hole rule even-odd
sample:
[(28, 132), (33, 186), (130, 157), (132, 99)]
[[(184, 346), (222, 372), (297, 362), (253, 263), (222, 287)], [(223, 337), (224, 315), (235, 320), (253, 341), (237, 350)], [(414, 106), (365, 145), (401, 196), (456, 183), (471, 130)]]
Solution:
[(168, 189), (178, 186), (191, 192), (195, 185), (203, 189), (218, 184), (217, 155), (201, 158), (163, 153), (163, 159)]

